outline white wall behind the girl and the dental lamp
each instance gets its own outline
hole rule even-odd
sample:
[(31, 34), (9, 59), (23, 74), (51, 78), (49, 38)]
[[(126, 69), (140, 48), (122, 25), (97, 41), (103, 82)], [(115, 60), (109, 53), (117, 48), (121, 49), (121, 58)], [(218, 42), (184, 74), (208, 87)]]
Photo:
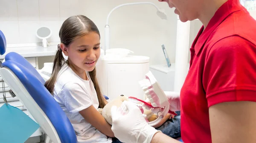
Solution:
[[(126, 6), (111, 14), (111, 48), (127, 48), (134, 55), (150, 57), (150, 64), (165, 64), (161, 45), (164, 44), (171, 62), (175, 62), (176, 15), (174, 9), (157, 0), (0, 0), (0, 30), (7, 44), (37, 43), (35, 31), (48, 26), (52, 36), (48, 42), (59, 42), (58, 31), (65, 19), (83, 14), (93, 20), (101, 33), (104, 46), (104, 26), (111, 9), (122, 3), (148, 1), (164, 8), (168, 20), (161, 20), (151, 5)], [(192, 22), (191, 37), (201, 27)]]

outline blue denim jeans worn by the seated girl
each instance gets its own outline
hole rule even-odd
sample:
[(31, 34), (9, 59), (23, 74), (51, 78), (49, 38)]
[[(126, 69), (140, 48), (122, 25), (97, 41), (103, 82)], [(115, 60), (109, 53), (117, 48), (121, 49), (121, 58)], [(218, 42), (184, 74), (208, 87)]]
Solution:
[[(177, 115), (172, 118), (168, 119), (165, 123), (163, 123), (162, 126), (156, 128), (157, 130), (160, 130), (163, 132), (163, 134), (168, 135), (169, 137), (172, 137), (174, 139), (181, 137), (180, 135), (180, 111), (176, 112)], [(112, 138), (112, 143), (122, 143), (117, 138)]]

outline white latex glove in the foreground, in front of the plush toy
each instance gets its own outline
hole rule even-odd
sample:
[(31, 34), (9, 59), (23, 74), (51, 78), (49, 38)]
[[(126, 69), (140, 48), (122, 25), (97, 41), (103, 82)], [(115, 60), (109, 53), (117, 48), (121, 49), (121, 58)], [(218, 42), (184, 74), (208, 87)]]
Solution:
[(150, 143), (155, 133), (161, 132), (149, 126), (140, 108), (131, 101), (124, 101), (121, 107), (111, 108), (112, 131), (123, 143)]

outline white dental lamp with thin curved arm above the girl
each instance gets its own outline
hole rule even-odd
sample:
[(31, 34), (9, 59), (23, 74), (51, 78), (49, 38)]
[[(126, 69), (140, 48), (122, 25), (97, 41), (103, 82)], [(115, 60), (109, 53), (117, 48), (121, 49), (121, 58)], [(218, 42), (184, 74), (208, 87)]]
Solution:
[(107, 22), (106, 22), (106, 25), (105, 25), (105, 50), (104, 50), (104, 53), (106, 54), (106, 50), (110, 49), (110, 26), (108, 25), (108, 19), (111, 15), (111, 13), (116, 10), (117, 8), (120, 8), (122, 6), (129, 6), (129, 5), (138, 5), (138, 4), (150, 4), (150, 5), (153, 5), (155, 8), (157, 8), (157, 15), (163, 19), (163, 20), (167, 20), (167, 16), (166, 16), (166, 13), (158, 8), (154, 3), (150, 3), (150, 2), (139, 2), (139, 3), (124, 3), (124, 4), (121, 4), (119, 6), (116, 6), (114, 7), (108, 14), (108, 17), (107, 17)]

